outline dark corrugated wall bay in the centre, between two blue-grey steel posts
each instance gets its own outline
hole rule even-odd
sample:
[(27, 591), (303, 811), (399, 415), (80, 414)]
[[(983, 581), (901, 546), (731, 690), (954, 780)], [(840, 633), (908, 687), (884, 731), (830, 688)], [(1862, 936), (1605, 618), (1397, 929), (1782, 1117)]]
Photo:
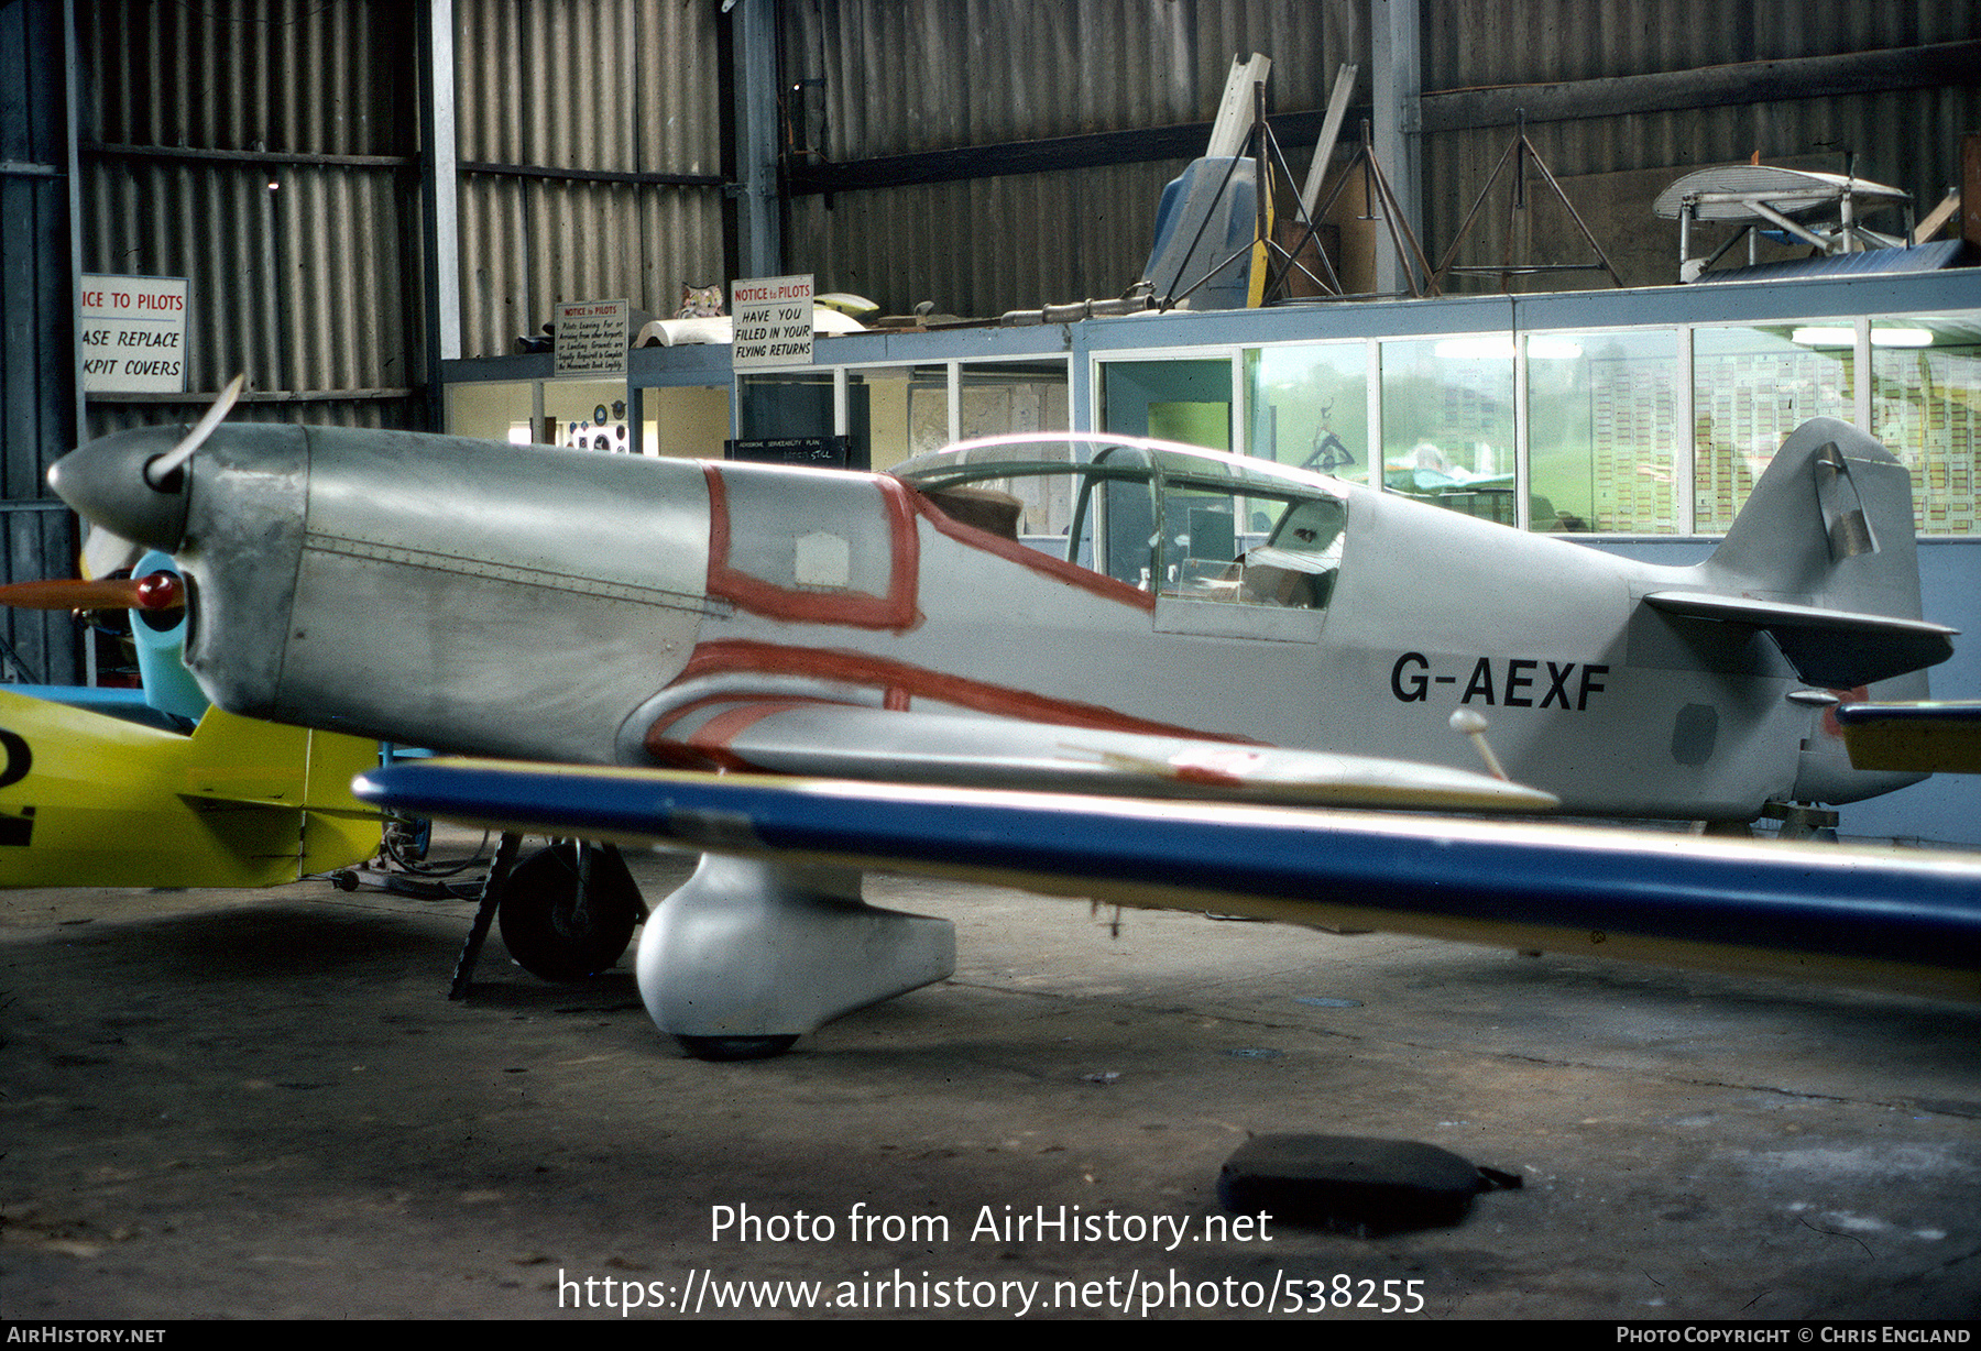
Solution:
[[(1276, 109), (1323, 109), (1341, 61), (1361, 61), (1367, 87), (1367, 8), (786, 4), (786, 263), (889, 313), (1119, 295), (1147, 261), (1163, 184), (1204, 153), (1232, 57), (1272, 57)], [(973, 153), (945, 155), (957, 147)], [(1311, 149), (1309, 131), (1296, 172)]]

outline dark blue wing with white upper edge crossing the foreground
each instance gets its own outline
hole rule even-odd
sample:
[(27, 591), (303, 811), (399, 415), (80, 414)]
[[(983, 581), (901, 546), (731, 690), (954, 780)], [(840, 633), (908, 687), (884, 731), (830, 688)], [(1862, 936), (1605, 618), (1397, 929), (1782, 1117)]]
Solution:
[(355, 792), (551, 834), (1981, 998), (1981, 866), (1961, 856), (493, 761), (394, 765)]

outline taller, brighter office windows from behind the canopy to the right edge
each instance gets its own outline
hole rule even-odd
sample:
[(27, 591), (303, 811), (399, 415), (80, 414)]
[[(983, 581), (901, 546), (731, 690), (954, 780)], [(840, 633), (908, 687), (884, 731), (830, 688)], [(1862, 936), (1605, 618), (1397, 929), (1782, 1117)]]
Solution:
[(1103, 432), (1577, 535), (1720, 535), (1789, 432), (1826, 416), (1906, 464), (1922, 535), (1977, 531), (1973, 311), (1101, 355), (1095, 390)]

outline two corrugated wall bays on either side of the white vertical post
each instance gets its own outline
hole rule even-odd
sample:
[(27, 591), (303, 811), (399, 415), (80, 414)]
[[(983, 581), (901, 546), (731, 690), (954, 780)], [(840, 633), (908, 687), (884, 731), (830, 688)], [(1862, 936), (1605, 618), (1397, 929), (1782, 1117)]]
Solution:
[[(81, 0), (83, 269), (188, 277), (188, 396), (420, 426), (422, 20), (363, 0)], [(452, 6), (460, 325), (723, 277), (717, 6)], [(95, 432), (176, 410), (91, 406)]]

